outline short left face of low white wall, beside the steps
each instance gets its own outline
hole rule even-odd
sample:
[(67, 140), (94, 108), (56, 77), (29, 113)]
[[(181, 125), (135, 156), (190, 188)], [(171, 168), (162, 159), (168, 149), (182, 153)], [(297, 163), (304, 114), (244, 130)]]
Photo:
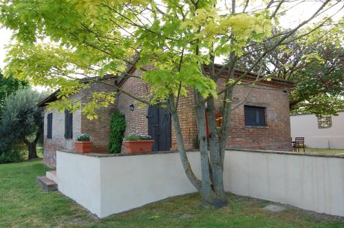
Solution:
[(100, 160), (98, 157), (57, 151), (56, 174), (58, 191), (100, 216)]

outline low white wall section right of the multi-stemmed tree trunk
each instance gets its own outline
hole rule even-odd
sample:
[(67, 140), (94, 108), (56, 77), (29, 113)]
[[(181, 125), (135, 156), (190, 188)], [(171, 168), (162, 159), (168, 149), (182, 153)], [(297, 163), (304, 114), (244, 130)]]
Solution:
[(344, 158), (228, 151), (228, 192), (344, 216)]

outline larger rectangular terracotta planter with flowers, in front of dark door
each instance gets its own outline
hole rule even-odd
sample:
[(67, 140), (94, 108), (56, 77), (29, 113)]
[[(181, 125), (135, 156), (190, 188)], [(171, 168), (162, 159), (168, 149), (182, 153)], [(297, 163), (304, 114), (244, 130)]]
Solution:
[(154, 140), (149, 135), (129, 133), (124, 137), (125, 149), (128, 154), (151, 152)]

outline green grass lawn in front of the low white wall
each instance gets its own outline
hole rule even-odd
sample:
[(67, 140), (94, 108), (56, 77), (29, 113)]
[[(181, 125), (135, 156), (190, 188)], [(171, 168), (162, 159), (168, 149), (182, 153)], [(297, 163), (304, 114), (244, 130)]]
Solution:
[(47, 170), (41, 160), (0, 165), (0, 227), (344, 227), (344, 218), (294, 207), (267, 212), (268, 201), (233, 194), (224, 209), (201, 207), (189, 194), (97, 219), (62, 194), (43, 192), (36, 176)]

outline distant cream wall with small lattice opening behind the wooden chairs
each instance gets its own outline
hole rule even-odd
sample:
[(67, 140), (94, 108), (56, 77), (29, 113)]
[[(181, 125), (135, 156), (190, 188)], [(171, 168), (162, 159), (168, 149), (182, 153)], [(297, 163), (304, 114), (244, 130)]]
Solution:
[(344, 149), (344, 111), (332, 116), (331, 128), (318, 128), (315, 115), (291, 115), (292, 138), (305, 137), (305, 145), (310, 148)]

